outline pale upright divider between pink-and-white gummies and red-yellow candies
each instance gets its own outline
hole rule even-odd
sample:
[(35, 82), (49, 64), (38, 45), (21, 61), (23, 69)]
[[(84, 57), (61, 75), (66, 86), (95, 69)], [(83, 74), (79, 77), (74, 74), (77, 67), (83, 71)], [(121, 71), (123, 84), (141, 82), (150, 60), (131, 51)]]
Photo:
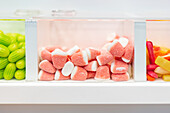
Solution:
[(135, 22), (134, 81), (146, 81), (146, 22)]

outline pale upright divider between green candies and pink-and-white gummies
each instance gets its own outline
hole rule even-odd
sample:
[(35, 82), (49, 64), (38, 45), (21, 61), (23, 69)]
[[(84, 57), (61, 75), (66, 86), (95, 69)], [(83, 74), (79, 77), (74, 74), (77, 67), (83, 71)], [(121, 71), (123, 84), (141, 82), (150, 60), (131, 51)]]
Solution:
[(36, 81), (38, 75), (37, 22), (25, 22), (26, 36), (26, 81)]

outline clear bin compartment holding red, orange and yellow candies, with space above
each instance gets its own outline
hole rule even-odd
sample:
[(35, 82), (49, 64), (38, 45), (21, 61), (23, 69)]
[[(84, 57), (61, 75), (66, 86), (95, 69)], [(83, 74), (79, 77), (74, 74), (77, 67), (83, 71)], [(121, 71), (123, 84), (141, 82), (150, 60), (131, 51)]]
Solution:
[(146, 35), (148, 80), (170, 81), (170, 21), (146, 21)]

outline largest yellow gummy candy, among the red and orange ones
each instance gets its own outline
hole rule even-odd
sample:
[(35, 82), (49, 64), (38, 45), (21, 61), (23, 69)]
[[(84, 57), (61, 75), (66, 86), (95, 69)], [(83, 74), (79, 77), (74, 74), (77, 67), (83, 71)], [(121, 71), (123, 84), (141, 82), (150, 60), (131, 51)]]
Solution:
[(170, 71), (170, 61), (164, 59), (161, 56), (158, 56), (155, 60), (155, 63), (159, 65), (161, 68)]

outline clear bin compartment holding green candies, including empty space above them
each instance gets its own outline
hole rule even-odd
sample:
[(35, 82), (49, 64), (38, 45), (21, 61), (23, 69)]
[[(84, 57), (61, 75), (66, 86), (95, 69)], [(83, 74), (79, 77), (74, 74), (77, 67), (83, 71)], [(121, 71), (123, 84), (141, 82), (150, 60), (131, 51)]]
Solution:
[(0, 20), (0, 82), (24, 80), (25, 62), (25, 20)]

